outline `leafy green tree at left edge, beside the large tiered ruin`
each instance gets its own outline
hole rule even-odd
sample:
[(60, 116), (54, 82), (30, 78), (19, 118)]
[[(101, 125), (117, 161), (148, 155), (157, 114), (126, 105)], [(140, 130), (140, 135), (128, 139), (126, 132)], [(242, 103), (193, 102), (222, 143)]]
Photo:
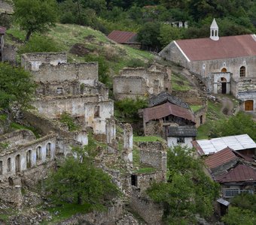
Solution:
[(14, 103), (29, 107), (34, 94), (35, 84), (29, 72), (0, 62), (0, 108), (8, 109)]

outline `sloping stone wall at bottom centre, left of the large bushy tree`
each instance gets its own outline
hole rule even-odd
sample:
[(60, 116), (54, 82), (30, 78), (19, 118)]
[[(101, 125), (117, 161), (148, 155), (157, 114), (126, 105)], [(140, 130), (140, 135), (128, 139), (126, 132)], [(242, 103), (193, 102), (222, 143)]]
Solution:
[(163, 224), (163, 205), (154, 203), (148, 196), (142, 196), (138, 190), (133, 188), (130, 206), (149, 225)]

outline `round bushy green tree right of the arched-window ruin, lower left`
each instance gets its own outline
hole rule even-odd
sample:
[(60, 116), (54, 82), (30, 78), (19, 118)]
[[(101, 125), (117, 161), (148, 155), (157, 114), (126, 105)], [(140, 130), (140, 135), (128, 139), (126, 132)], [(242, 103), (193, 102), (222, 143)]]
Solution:
[(91, 135), (88, 141), (84, 148), (73, 149), (76, 157), (67, 157), (59, 169), (50, 174), (46, 190), (61, 202), (72, 201), (99, 210), (104, 208), (106, 200), (117, 196), (118, 189), (108, 174), (94, 166), (97, 144)]

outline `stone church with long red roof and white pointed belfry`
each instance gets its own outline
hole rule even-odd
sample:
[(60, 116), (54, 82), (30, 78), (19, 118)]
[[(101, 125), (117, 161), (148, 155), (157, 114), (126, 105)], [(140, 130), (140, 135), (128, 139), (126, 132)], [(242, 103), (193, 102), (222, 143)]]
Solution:
[(256, 36), (219, 37), (212, 21), (210, 37), (173, 40), (159, 55), (200, 77), (209, 93), (232, 94), (242, 110), (256, 110)]

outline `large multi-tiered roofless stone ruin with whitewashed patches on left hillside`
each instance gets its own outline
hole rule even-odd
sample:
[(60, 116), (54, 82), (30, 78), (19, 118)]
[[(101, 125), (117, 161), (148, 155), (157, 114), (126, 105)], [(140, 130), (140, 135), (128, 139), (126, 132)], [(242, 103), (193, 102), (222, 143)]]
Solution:
[(38, 84), (32, 103), (38, 113), (48, 118), (69, 113), (84, 128), (105, 134), (105, 120), (114, 115), (114, 102), (99, 82), (97, 62), (70, 64), (65, 52), (27, 53), (21, 62)]

